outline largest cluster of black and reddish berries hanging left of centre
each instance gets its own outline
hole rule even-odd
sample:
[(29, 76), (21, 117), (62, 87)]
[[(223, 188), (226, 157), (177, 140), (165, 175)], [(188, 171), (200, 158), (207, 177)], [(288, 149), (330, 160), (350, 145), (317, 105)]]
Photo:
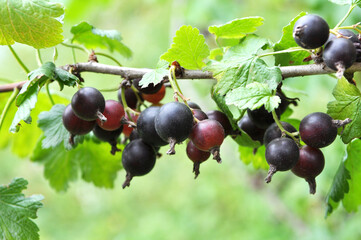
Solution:
[[(100, 91), (92, 87), (77, 91), (63, 113), (70, 144), (74, 144), (76, 135), (92, 131), (99, 140), (110, 143), (111, 153), (115, 154), (120, 151), (117, 144), (123, 133), (124, 142), (129, 140), (122, 154), (126, 171), (123, 188), (130, 185), (134, 176), (145, 175), (153, 169), (160, 147), (169, 144), (167, 154), (175, 154), (175, 145), (187, 139), (187, 155), (194, 162), (195, 177), (199, 174), (200, 163), (211, 154), (220, 163), (220, 145), (232, 132), (227, 116), (220, 111), (206, 114), (192, 102), (161, 105), (165, 85), (150, 84), (142, 88), (139, 81), (135, 79), (127, 88), (120, 89), (119, 101), (105, 100)], [(144, 100), (153, 105), (147, 107)], [(143, 106), (145, 108), (140, 111)]]

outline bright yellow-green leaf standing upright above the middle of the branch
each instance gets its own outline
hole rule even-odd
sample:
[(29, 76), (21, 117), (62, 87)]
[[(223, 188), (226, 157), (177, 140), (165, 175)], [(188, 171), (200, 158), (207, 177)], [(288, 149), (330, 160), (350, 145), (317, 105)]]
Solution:
[(197, 28), (182, 26), (176, 32), (170, 49), (160, 58), (171, 63), (178, 61), (186, 69), (201, 69), (203, 60), (209, 56), (209, 48), (204, 36)]

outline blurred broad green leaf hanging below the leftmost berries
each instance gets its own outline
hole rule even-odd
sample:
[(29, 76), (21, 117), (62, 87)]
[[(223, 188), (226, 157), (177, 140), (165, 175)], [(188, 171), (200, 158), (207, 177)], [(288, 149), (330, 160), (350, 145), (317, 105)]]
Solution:
[(121, 154), (110, 154), (108, 143), (97, 144), (85, 140), (75, 149), (67, 151), (63, 144), (43, 149), (38, 142), (31, 160), (44, 164), (44, 175), (56, 191), (66, 191), (69, 184), (78, 178), (92, 182), (95, 186), (112, 188), (121, 169)]

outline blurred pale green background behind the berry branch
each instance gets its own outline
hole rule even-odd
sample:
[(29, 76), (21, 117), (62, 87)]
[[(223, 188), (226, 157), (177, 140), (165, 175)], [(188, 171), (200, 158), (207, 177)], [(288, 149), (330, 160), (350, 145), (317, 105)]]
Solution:
[[(88, 21), (100, 29), (116, 29), (124, 43), (133, 50), (133, 58), (115, 55), (125, 66), (154, 67), (159, 56), (170, 46), (175, 31), (182, 25), (192, 25), (202, 33), (213, 24), (235, 18), (262, 16), (264, 26), (258, 34), (276, 42), (282, 27), (299, 12), (306, 11), (324, 17), (334, 26), (347, 7), (326, 0), (88, 0), (59, 1), (64, 3), (64, 36), (71, 37), (71, 26)], [(354, 11), (348, 23), (360, 21), (361, 11)], [(346, 23), (347, 24), (347, 23)], [(208, 44), (214, 40), (207, 37)], [(16, 44), (15, 50), (29, 68), (37, 67), (34, 49)], [(58, 65), (70, 63), (71, 50), (59, 47)], [(52, 50), (43, 50), (44, 60), (51, 59)], [(78, 52), (78, 61), (87, 56)], [(113, 64), (99, 57), (100, 62)], [(9, 71), (10, 70), (10, 71)], [(19, 81), (26, 75), (10, 55), (0, 48), (0, 75)], [(117, 87), (114, 76), (84, 74), (86, 85), (100, 88)], [(204, 110), (212, 110), (210, 87), (213, 82), (181, 81), (181, 88)], [(287, 79), (290, 97), (301, 99), (294, 108), (294, 118), (301, 119), (314, 111), (326, 111), (333, 100), (336, 80), (329, 76)], [(106, 85), (106, 87), (104, 87)], [(54, 87), (53, 91), (57, 91)], [(75, 90), (67, 90), (68, 98)], [(116, 98), (107, 93), (106, 98)], [(171, 100), (168, 92), (167, 99)], [(21, 134), (21, 133), (20, 133)], [(239, 160), (238, 147), (227, 139), (221, 148), (223, 163), (208, 161), (201, 165), (201, 174), (193, 179), (192, 163), (185, 154), (185, 144), (176, 148), (175, 156), (157, 161), (154, 170), (145, 177), (135, 178), (129, 189), (121, 189), (125, 173), (120, 171), (115, 188), (98, 189), (79, 180), (65, 193), (56, 193), (43, 177), (43, 167), (19, 159), (10, 149), (0, 151), (0, 183), (13, 177), (29, 181), (27, 195), (42, 194), (44, 207), (35, 222), (41, 239), (361, 239), (361, 217), (338, 209), (324, 219), (325, 198), (332, 178), (343, 158), (345, 146), (338, 139), (323, 149), (326, 157), (324, 172), (317, 178), (315, 196), (308, 194), (307, 183), (291, 173), (277, 173), (271, 184), (263, 181), (266, 172), (254, 170)], [(163, 149), (163, 153), (166, 149)], [(108, 153), (100, 153), (108, 154)]]

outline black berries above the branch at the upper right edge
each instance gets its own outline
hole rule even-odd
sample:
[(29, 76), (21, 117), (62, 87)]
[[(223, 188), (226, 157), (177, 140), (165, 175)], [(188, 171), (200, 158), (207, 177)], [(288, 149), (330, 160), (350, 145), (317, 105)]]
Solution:
[(324, 46), (317, 50), (317, 55), (322, 56), (319, 61), (336, 70), (338, 76), (342, 76), (355, 61), (361, 62), (360, 35), (357, 36), (348, 29), (330, 30), (327, 22), (320, 16), (308, 14), (298, 19), (293, 28), (293, 38), (305, 49)]

